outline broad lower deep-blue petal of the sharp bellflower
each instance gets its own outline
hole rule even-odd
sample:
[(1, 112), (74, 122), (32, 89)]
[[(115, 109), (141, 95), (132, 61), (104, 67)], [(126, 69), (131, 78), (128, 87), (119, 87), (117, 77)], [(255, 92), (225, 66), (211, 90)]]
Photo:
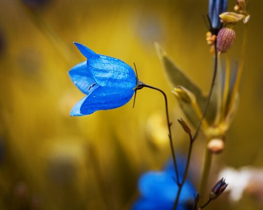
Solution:
[(98, 110), (115, 109), (131, 100), (134, 90), (127, 88), (99, 87), (83, 102), (80, 113), (90, 115)]

